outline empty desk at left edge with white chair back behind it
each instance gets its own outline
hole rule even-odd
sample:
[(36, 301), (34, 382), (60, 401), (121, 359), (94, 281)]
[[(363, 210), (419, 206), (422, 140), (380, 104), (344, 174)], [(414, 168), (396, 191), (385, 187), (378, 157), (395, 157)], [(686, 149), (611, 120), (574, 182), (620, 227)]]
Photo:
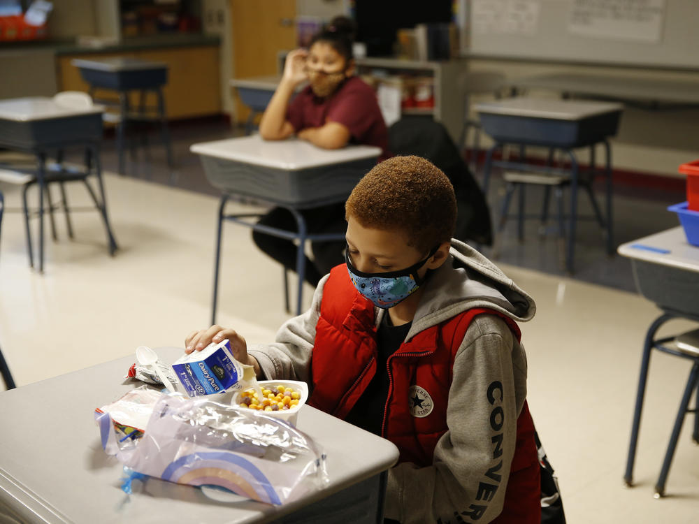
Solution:
[[(46, 160), (49, 154), (68, 147), (85, 147), (87, 151), (87, 173), (94, 168), (99, 184), (101, 200), (87, 188), (101, 212), (107, 233), (110, 254), (114, 254), (117, 243), (112, 234), (107, 216), (106, 199), (102, 183), (99, 146), (102, 140), (102, 112), (99, 105), (85, 108), (69, 108), (43, 96), (0, 101), (0, 147), (20, 150), (36, 155), (36, 182), (39, 187), (39, 271), (43, 271), (43, 214), (44, 192), (49, 176)], [(94, 166), (93, 166), (94, 164)], [(57, 177), (61, 176), (61, 173)], [(87, 182), (86, 182), (87, 183)], [(27, 219), (27, 241), (29, 242), (29, 264), (34, 265), (31, 254), (31, 235)]]

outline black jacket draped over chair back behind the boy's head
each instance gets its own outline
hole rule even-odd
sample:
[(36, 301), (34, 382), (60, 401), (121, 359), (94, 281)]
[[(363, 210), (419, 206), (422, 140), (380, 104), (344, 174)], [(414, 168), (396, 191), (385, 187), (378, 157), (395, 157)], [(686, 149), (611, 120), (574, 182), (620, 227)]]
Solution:
[(483, 191), (443, 124), (424, 117), (403, 118), (389, 128), (389, 150), (423, 157), (444, 171), (454, 186), (459, 210), (454, 238), (492, 245), (490, 211)]

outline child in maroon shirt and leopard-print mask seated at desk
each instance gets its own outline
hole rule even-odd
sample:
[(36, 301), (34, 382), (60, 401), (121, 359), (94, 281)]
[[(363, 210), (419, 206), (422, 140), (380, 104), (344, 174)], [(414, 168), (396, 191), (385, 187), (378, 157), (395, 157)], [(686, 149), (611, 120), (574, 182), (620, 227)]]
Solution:
[[(374, 90), (354, 76), (352, 57), (353, 22), (336, 17), (316, 34), (308, 50), (287, 54), (284, 74), (259, 125), (262, 138), (284, 140), (296, 135), (301, 140), (338, 149), (345, 145), (374, 145), (382, 149), (380, 160), (390, 156), (388, 131)], [(308, 82), (296, 97), (296, 87)], [(338, 233), (344, 230), (345, 208), (341, 203), (302, 210), (310, 233)], [(274, 208), (260, 222), (291, 231), (296, 220), (289, 210)], [(257, 246), (286, 268), (296, 269), (296, 246), (291, 240), (252, 234)], [(314, 260), (306, 259), (305, 277), (316, 286), (320, 278), (342, 262), (342, 242), (312, 242)]]

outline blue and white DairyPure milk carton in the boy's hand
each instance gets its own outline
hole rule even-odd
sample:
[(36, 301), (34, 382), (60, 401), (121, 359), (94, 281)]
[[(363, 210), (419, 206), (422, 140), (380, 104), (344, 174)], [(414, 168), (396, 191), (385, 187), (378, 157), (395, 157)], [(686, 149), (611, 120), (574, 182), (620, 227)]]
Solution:
[(233, 358), (228, 340), (185, 354), (172, 367), (190, 397), (237, 391), (256, 382), (252, 366)]

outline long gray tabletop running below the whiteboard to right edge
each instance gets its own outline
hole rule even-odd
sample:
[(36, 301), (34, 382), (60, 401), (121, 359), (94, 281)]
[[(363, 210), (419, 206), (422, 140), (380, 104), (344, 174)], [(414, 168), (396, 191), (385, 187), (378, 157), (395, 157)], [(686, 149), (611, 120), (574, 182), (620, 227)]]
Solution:
[(510, 83), (515, 87), (541, 87), (563, 92), (610, 96), (621, 100), (699, 103), (699, 82), (687, 80), (554, 73), (514, 78)]

